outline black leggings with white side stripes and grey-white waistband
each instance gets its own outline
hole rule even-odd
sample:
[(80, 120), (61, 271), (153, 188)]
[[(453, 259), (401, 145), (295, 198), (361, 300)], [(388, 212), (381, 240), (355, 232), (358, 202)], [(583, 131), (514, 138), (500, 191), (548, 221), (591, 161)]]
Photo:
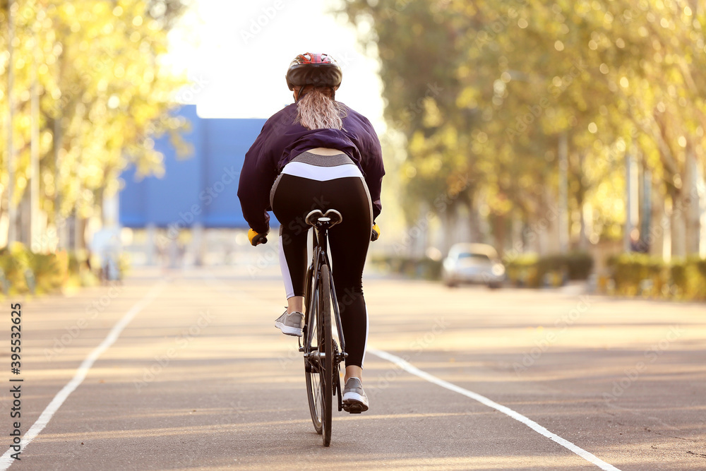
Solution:
[(343, 220), (328, 231), (333, 282), (348, 352), (346, 366), (362, 367), (368, 334), (362, 276), (372, 229), (367, 186), (358, 167), (345, 154), (305, 152), (292, 162), (282, 169), (270, 198), (273, 213), (281, 223), (280, 266), (287, 298), (304, 296), (309, 262), (309, 225), (304, 217), (314, 209), (324, 213), (331, 208), (338, 210)]

